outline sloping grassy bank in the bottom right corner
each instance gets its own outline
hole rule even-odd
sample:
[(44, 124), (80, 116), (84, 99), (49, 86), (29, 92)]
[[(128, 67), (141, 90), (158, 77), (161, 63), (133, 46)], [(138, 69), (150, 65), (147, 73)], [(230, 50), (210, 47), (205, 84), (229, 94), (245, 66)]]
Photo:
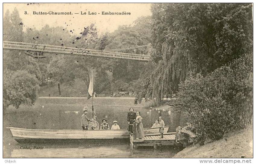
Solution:
[(226, 134), (223, 139), (203, 146), (189, 146), (177, 153), (173, 158), (246, 158), (253, 157), (252, 126), (240, 131)]

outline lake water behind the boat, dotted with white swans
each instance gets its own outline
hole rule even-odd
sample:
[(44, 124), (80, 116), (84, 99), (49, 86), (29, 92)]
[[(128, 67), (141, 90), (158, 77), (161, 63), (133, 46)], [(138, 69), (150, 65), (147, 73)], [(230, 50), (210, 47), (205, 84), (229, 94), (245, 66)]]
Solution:
[[(65, 104), (45, 104), (44, 109), (40, 106), (33, 106), (33, 109), (22, 112), (10, 112), (5, 114), (5, 121), (8, 122), (8, 126), (17, 128), (31, 128), (31, 129), (82, 129), (80, 127), (81, 115), (80, 110), (83, 109), (82, 105), (66, 106)], [(71, 110), (67, 110), (71, 109)], [(127, 107), (122, 106), (97, 106), (95, 113), (98, 120), (103, 118), (107, 119), (109, 126), (111, 126), (114, 120), (118, 121), (121, 129), (125, 129), (128, 126), (127, 122)], [(145, 128), (149, 128), (153, 125), (154, 120), (159, 116), (163, 117), (166, 125), (169, 125), (169, 131), (175, 131), (178, 126), (185, 125), (185, 122), (181, 118), (184, 118), (182, 114), (172, 113), (170, 110), (166, 112), (160, 109), (146, 109), (136, 108), (134, 111), (140, 111), (143, 118), (143, 125)], [(88, 109), (88, 118), (92, 118), (92, 111)], [(54, 125), (54, 126), (53, 126)]]

